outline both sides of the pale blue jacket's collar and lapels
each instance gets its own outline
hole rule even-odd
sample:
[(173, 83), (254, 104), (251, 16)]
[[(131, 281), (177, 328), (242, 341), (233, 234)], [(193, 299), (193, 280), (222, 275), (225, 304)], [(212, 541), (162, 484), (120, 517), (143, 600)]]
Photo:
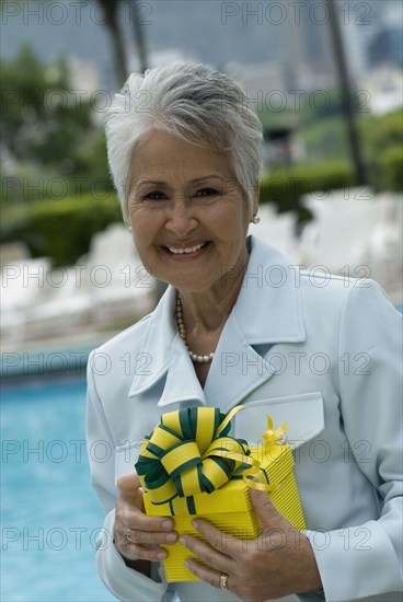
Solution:
[[(256, 236), (237, 303), (221, 333), (204, 390), (177, 334), (175, 294), (169, 287), (148, 319), (141, 354), (151, 370), (135, 375), (129, 396), (150, 390), (166, 375), (158, 403), (165, 406), (195, 401), (229, 409), (269, 379), (273, 367), (256, 346), (306, 339), (300, 288), (292, 262)], [(257, 347), (258, 349), (258, 347)]]

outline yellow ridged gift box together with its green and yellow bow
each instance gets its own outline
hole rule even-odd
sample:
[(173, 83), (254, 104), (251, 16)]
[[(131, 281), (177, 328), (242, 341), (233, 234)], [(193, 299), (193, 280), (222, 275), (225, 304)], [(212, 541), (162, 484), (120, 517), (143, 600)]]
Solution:
[[(192, 525), (197, 517), (208, 520), (228, 537), (255, 539), (262, 528), (249, 497), (249, 488), (264, 489), (277, 510), (297, 529), (304, 528), (302, 509), (293, 477), (293, 458), (284, 443), (281, 425), (267, 430), (262, 445), (251, 448), (246, 441), (228, 437), (230, 420), (212, 407), (171, 412), (146, 437), (136, 471), (143, 488), (147, 514), (173, 516), (175, 530), (202, 535)], [(251, 479), (257, 477), (258, 483)], [(182, 544), (165, 546), (168, 581), (195, 581), (198, 578), (183, 563), (194, 555)]]

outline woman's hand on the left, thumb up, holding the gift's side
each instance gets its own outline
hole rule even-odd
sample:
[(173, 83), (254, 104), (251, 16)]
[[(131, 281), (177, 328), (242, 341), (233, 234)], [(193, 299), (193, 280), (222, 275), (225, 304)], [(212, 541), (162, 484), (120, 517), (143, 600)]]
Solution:
[(177, 541), (174, 522), (169, 517), (145, 514), (140, 479), (136, 474), (123, 475), (117, 486), (119, 496), (116, 501), (115, 546), (128, 566), (145, 572), (134, 563), (164, 560), (168, 552), (160, 545)]

